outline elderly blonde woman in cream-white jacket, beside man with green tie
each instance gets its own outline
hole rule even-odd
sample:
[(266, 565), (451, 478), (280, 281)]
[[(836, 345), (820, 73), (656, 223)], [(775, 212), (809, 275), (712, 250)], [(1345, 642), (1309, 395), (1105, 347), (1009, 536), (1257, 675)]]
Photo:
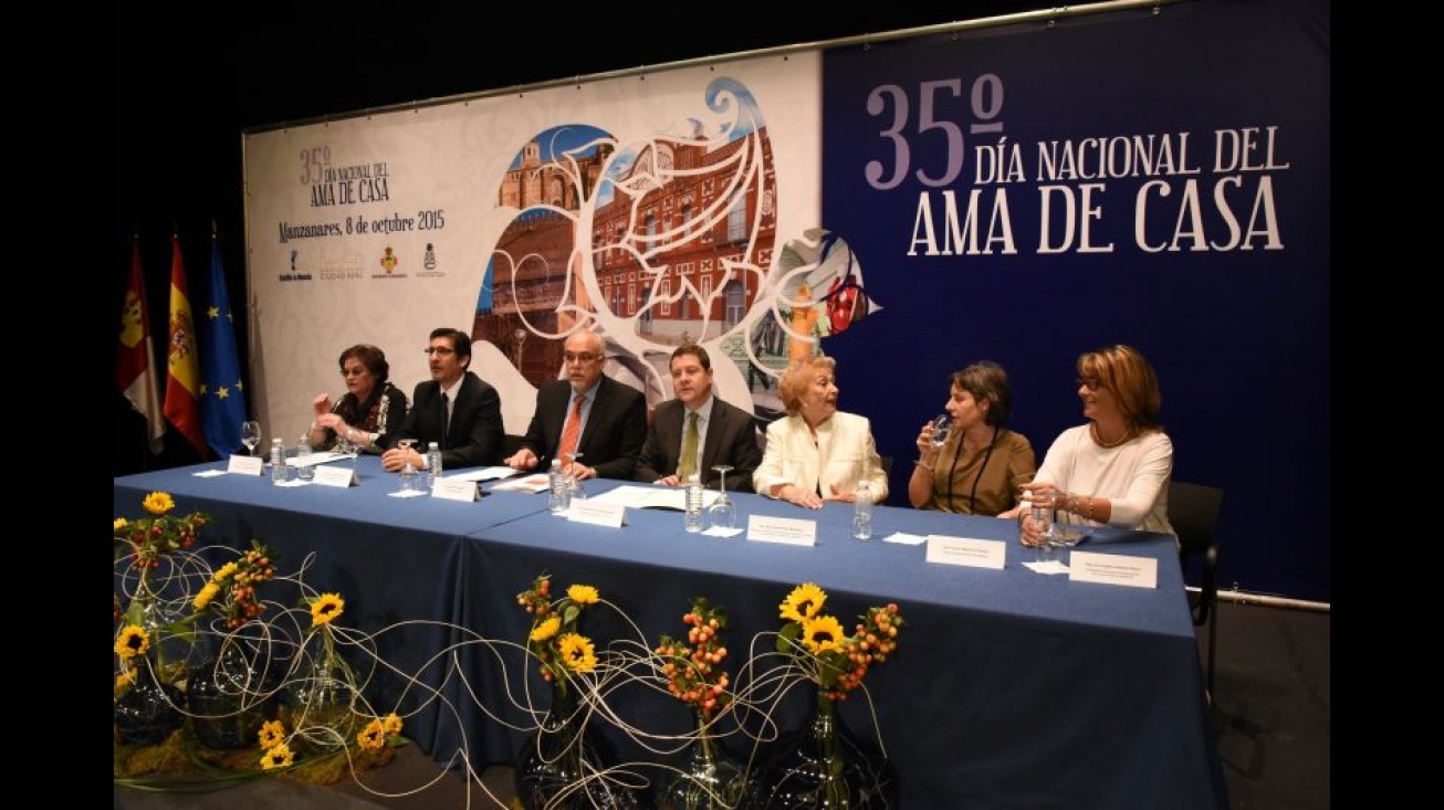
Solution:
[(859, 481), (872, 500), (888, 497), (872, 427), (865, 416), (838, 410), (838, 384), (830, 357), (794, 360), (777, 390), (787, 416), (767, 426), (762, 465), (752, 474), (757, 492), (806, 508), (823, 501), (852, 501)]

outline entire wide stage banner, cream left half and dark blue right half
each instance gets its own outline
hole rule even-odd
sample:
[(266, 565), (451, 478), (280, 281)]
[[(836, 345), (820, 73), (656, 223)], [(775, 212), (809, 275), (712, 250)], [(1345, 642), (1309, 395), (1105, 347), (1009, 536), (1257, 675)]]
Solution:
[(253, 401), (293, 440), (342, 349), (410, 393), (456, 326), (521, 433), (595, 328), (650, 403), (697, 341), (765, 422), (825, 352), (902, 504), (949, 373), (1002, 362), (1041, 461), (1128, 342), (1225, 583), (1327, 599), (1327, 510), (1278, 507), (1328, 502), (1327, 100), (1327, 4), (1220, 0), (250, 133)]

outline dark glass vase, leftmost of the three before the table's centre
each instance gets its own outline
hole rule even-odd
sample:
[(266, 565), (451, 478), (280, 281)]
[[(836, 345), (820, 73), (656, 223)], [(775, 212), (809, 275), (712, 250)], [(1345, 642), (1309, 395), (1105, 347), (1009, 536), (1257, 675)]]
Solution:
[(599, 775), (605, 745), (578, 713), (578, 683), (553, 684), (540, 728), (517, 754), (517, 807), (523, 810), (637, 809), (637, 796)]

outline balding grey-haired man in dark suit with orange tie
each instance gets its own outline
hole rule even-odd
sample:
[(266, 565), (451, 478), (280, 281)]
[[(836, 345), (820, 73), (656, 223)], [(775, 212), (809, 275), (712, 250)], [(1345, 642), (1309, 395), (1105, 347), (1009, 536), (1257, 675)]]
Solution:
[(582, 456), (570, 465), (570, 472), (579, 481), (631, 481), (637, 453), (647, 437), (647, 400), (637, 388), (602, 374), (606, 355), (595, 332), (573, 332), (565, 352), (566, 380), (537, 388), (537, 407), (521, 449), (504, 463), (526, 471), (549, 466), (553, 458), (560, 458), (567, 465), (570, 459), (563, 445), (575, 442)]

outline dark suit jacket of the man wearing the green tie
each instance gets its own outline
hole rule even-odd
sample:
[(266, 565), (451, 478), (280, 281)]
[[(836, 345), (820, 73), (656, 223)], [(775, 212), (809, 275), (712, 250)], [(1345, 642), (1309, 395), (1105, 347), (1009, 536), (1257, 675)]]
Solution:
[[(647, 442), (637, 456), (637, 481), (653, 481), (677, 472), (682, 456), (682, 432), (686, 429), (687, 409), (682, 400), (667, 400), (657, 406), (647, 429)], [(729, 492), (751, 492), (752, 471), (762, 463), (762, 449), (757, 445), (757, 420), (745, 410), (726, 403), (712, 393), (712, 419), (708, 440), (702, 448), (702, 482), (716, 487), (718, 474), (712, 465), (731, 463), (726, 474)]]

